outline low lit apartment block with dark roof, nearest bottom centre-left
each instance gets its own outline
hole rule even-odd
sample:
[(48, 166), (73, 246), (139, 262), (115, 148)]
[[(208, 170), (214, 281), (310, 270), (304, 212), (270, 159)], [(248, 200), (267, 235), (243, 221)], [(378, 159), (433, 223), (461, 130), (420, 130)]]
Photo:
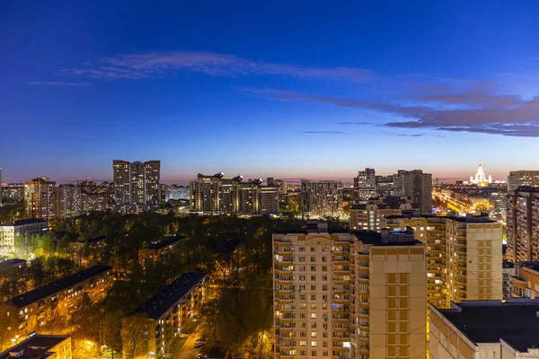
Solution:
[[(187, 272), (155, 294), (147, 302), (122, 321), (122, 337), (130, 337), (129, 323), (134, 316), (147, 316), (147, 353), (164, 355), (170, 342), (181, 333), (181, 326), (196, 314), (196, 307), (204, 302), (206, 273)], [(129, 351), (131, 343), (124, 342), (124, 351)], [(134, 350), (133, 350), (134, 351)]]

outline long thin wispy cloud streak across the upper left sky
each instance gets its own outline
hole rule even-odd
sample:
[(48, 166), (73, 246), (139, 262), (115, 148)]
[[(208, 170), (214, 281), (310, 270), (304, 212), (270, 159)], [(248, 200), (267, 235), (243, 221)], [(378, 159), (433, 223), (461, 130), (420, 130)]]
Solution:
[(253, 61), (234, 55), (212, 52), (154, 52), (105, 57), (82, 68), (63, 68), (60, 74), (85, 75), (95, 79), (142, 79), (177, 72), (208, 74), (218, 77), (275, 75), (305, 80), (329, 80), (366, 83), (373, 81), (372, 71), (352, 67), (302, 67)]

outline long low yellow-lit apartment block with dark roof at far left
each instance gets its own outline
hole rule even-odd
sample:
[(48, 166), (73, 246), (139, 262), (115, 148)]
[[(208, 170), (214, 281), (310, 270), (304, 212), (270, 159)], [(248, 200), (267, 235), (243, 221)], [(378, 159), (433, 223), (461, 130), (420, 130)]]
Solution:
[(12, 298), (8, 305), (19, 318), (13, 337), (25, 338), (51, 320), (68, 319), (84, 293), (93, 302), (102, 300), (112, 280), (112, 267), (93, 266)]

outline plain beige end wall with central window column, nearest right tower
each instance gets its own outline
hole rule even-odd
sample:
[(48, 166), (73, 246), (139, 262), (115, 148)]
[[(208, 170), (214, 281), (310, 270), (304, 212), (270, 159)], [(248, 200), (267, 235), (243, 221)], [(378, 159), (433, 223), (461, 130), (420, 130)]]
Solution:
[(425, 357), (425, 247), (371, 247), (370, 262), (369, 358)]

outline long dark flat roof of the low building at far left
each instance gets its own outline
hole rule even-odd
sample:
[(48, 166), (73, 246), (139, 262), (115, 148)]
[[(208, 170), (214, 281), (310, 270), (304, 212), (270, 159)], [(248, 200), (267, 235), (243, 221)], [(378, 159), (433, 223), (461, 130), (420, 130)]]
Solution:
[(88, 269), (84, 269), (83, 271), (77, 272), (74, 275), (60, 278), (56, 282), (52, 282), (49, 285), (40, 286), (33, 291), (17, 295), (9, 302), (11, 302), (15, 307), (22, 308), (31, 304), (32, 302), (38, 302), (41, 299), (47, 298), (54, 293), (71, 288), (72, 286), (84, 282), (93, 276), (99, 276), (110, 269), (112, 269), (112, 267), (103, 265), (89, 267)]

